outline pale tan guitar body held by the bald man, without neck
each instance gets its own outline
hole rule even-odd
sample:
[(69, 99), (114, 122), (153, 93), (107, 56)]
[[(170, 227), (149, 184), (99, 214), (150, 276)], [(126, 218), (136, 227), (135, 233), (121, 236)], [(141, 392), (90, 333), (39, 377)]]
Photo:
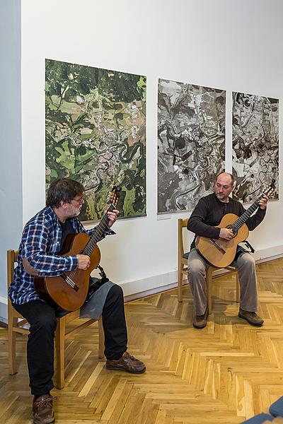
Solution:
[[(216, 225), (216, 228), (230, 228), (237, 219), (238, 216), (234, 213), (226, 213), (221, 219), (221, 223)], [(224, 240), (221, 238), (212, 239), (200, 236), (197, 237), (195, 245), (197, 252), (199, 252), (209, 264), (224, 268), (233, 262), (238, 243), (243, 242), (247, 237), (248, 227), (246, 224), (243, 224), (231, 240)]]

